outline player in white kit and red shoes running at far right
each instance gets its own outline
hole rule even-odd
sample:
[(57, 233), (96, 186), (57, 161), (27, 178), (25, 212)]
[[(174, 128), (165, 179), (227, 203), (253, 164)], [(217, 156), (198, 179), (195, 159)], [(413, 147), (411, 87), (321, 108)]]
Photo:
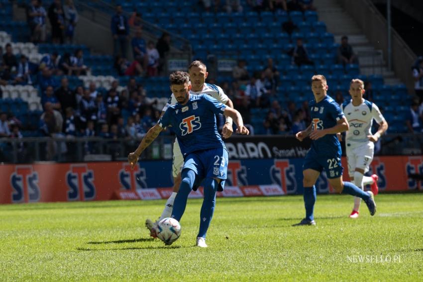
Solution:
[[(378, 106), (363, 98), (365, 93), (364, 83), (359, 79), (351, 80), (349, 94), (351, 100), (341, 105), (349, 123), (349, 130), (345, 136), (345, 148), (348, 162), (348, 174), (354, 184), (363, 189), (364, 185), (370, 185), (374, 195), (378, 194), (378, 176), (364, 176), (369, 171), (369, 165), (373, 160), (375, 148), (374, 142), (388, 129), (388, 123), (380, 112)], [(375, 134), (371, 133), (373, 119), (379, 123), (379, 129)], [(354, 198), (354, 207), (350, 218), (358, 217), (360, 197)]]

